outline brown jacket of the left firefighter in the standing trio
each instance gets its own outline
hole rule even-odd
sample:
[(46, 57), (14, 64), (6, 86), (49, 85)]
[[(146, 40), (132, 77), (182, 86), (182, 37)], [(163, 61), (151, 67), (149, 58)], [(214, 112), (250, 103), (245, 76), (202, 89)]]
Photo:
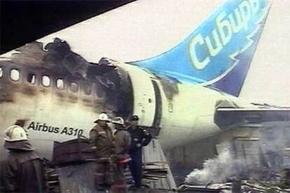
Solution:
[(113, 134), (109, 127), (98, 124), (90, 130), (90, 145), (96, 157), (110, 157), (113, 154)]

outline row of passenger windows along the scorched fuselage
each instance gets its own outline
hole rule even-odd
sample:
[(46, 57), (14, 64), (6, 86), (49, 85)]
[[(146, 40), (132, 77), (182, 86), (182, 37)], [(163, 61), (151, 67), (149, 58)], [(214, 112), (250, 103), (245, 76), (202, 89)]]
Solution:
[[(3, 76), (3, 69), (0, 66), (0, 78)], [(20, 71), (18, 69), (11, 69), (10, 71), (10, 78), (13, 81), (20, 80)], [(27, 76), (27, 82), (30, 84), (36, 83), (36, 76), (34, 73), (29, 73)], [(50, 86), (50, 77), (47, 75), (43, 75), (41, 77), (41, 84), (44, 87)], [(62, 78), (57, 78), (56, 85), (57, 89), (63, 90), (64, 89), (64, 80)], [(69, 85), (72, 92), (78, 92), (78, 84), (77, 83), (70, 83)], [(84, 87), (85, 94), (91, 94), (92, 93), (92, 87), (90, 85), (85, 85)]]

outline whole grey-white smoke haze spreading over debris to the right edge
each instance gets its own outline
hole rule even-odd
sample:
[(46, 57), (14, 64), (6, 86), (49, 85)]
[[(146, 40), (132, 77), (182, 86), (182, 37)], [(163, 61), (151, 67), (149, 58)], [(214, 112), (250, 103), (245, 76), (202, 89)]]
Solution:
[(186, 183), (225, 183), (230, 178), (254, 178), (277, 182), (279, 172), (290, 166), (289, 122), (274, 122), (257, 129), (256, 138), (236, 138), (221, 144), (223, 150), (214, 159), (207, 159), (203, 169), (194, 169)]

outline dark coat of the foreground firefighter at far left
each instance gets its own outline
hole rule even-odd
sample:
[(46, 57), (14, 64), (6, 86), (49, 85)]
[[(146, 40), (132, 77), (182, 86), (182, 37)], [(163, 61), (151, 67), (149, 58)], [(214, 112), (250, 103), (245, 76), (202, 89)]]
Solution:
[(0, 192), (45, 192), (43, 162), (33, 150), (11, 150), (1, 163)]

